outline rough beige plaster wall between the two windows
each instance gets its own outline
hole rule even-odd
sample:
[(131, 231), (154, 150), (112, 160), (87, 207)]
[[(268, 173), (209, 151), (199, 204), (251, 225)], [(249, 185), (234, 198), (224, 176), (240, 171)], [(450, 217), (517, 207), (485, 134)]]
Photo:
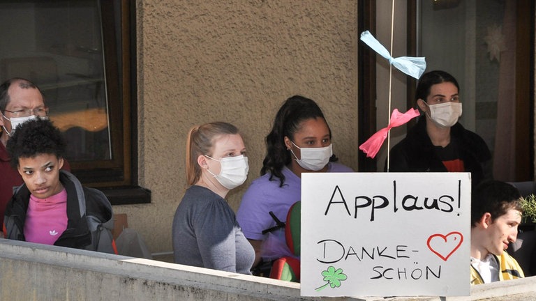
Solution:
[(172, 250), (174, 210), (185, 190), (188, 129), (228, 121), (244, 134), (258, 177), (264, 138), (281, 103), (312, 98), (334, 134), (334, 153), (357, 170), (357, 1), (137, 1), (140, 185), (150, 204), (128, 214), (151, 252)]

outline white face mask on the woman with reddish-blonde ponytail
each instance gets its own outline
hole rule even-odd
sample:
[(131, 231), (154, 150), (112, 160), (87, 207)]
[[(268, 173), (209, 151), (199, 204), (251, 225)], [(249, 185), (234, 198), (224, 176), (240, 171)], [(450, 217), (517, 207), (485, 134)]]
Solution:
[(221, 171), (218, 175), (215, 175), (209, 169), (207, 169), (207, 171), (228, 190), (232, 190), (233, 188), (242, 185), (246, 181), (249, 171), (248, 157), (239, 155), (236, 157), (223, 157), (221, 160), (216, 160), (208, 155), (204, 156), (220, 162)]

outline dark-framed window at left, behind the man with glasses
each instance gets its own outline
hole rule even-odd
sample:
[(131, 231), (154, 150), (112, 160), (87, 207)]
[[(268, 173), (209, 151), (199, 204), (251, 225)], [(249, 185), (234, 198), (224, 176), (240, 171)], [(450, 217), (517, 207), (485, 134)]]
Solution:
[(39, 86), (73, 173), (114, 205), (150, 200), (137, 186), (134, 12), (127, 0), (0, 3), (2, 81)]

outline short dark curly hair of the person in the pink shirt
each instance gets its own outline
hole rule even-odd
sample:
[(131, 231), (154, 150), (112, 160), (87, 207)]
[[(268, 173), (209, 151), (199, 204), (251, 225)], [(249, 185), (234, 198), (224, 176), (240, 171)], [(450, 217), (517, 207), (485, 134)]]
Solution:
[(19, 167), (20, 157), (35, 157), (40, 154), (54, 154), (64, 157), (66, 141), (52, 121), (36, 118), (17, 126), (17, 130), (8, 139), (6, 148), (11, 157), (11, 166)]

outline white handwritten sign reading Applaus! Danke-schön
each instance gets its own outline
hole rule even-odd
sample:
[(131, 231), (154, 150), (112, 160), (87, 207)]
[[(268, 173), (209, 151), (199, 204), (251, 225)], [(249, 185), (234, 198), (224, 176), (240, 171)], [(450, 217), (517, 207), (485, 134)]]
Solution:
[(301, 295), (469, 295), (470, 192), (470, 173), (302, 173)]

